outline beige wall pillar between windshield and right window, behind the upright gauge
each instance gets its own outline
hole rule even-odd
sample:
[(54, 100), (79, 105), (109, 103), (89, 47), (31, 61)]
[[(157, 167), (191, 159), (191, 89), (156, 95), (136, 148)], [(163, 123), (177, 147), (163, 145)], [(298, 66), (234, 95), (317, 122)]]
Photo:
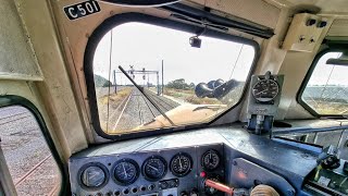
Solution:
[[(285, 75), (282, 98), (277, 115), (275, 117), (276, 120), (313, 118), (297, 103), (296, 96), (311, 62), (320, 48), (320, 44), (324, 39), (333, 22), (332, 17), (327, 17), (327, 26), (319, 38), (313, 52), (287, 51), (281, 48), (281, 44), (287, 33), (287, 25), (289, 25), (288, 17), (294, 15), (294, 12), (295, 10), (293, 9), (283, 9), (279, 22), (275, 28), (275, 36), (265, 40), (262, 45), (261, 57), (254, 72), (254, 74), (264, 74), (266, 71), (271, 71), (275, 74)], [(247, 120), (246, 108), (247, 101), (244, 102), (240, 121)]]

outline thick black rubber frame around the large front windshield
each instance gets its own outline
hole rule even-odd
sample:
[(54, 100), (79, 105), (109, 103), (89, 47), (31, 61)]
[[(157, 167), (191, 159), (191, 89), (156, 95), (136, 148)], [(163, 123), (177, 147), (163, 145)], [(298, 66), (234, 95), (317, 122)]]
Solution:
[(245, 44), (253, 47), (254, 49), (254, 57), (253, 61), (250, 68), (250, 71), (248, 73), (243, 94), (240, 95), (240, 98), (236, 105), (227, 109), (226, 111), (220, 113), (216, 115), (213, 120), (209, 122), (202, 122), (202, 123), (195, 123), (195, 124), (188, 124), (188, 125), (179, 125), (175, 127), (160, 127), (156, 130), (141, 130), (139, 132), (130, 132), (120, 135), (109, 135), (104, 133), (100, 126), (99, 121), (99, 112), (98, 112), (98, 106), (97, 106), (97, 97), (96, 97), (96, 88), (95, 88), (95, 81), (94, 81), (94, 57), (95, 51), (99, 45), (99, 41), (103, 38), (103, 36), (111, 30), (112, 28), (115, 28), (122, 24), (125, 23), (132, 23), (132, 22), (138, 22), (144, 24), (150, 24), (156, 26), (161, 26), (164, 28), (171, 28), (174, 30), (182, 30), (192, 34), (198, 34), (201, 32), (202, 26), (195, 25), (195, 24), (188, 24), (188, 23), (182, 23), (169, 19), (163, 17), (157, 17), (144, 13), (137, 13), (137, 12), (127, 12), (127, 13), (121, 13), (113, 15), (111, 17), (108, 17), (104, 20), (101, 24), (98, 25), (98, 27), (92, 32), (92, 34), (89, 36), (89, 39), (86, 45), (85, 53), (84, 53), (84, 73), (85, 73), (85, 82), (87, 87), (87, 96), (88, 96), (88, 105), (89, 105), (89, 111), (90, 111), (90, 118), (91, 118), (91, 124), (94, 127), (94, 131), (101, 137), (112, 140), (125, 140), (130, 138), (140, 138), (140, 137), (147, 137), (147, 136), (154, 136), (154, 135), (161, 135), (161, 134), (167, 134), (173, 133), (177, 131), (186, 131), (186, 130), (194, 130), (194, 128), (201, 128), (207, 127), (208, 125), (212, 124), (216, 120), (219, 120), (221, 117), (236, 108), (237, 106), (243, 102), (243, 98), (246, 96), (247, 88), (250, 84), (251, 74), (254, 71), (256, 64), (260, 58), (260, 46), (259, 44), (253, 39), (247, 39), (244, 37), (234, 36), (227, 33), (214, 30), (211, 28), (208, 28), (204, 30), (204, 36), (212, 37), (212, 38), (219, 38), (223, 40), (228, 41), (235, 41), (239, 44)]

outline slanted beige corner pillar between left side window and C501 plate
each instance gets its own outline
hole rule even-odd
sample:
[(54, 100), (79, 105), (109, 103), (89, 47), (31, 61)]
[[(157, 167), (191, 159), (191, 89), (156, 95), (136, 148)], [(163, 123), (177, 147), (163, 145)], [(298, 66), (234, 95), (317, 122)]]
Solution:
[(60, 140), (66, 140), (65, 156), (87, 147), (85, 122), (65, 69), (65, 61), (57, 37), (55, 25), (46, 0), (17, 0), (20, 13), (30, 36), (45, 79), (38, 93)]

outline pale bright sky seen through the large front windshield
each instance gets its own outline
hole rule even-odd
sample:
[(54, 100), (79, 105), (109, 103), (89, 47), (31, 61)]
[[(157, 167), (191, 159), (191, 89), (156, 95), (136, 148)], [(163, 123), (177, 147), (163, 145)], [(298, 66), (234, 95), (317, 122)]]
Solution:
[[(111, 46), (110, 32), (99, 42), (94, 58), (95, 74), (108, 78), (109, 70), (120, 71), (119, 65), (129, 70), (130, 64), (135, 70), (145, 68), (161, 74), (163, 60), (164, 84), (177, 78), (185, 78), (188, 84), (217, 78), (246, 81), (254, 58), (251, 46), (201, 36), (201, 48), (192, 48), (191, 36), (195, 35), (150, 24), (122, 24), (112, 29)], [(116, 79), (117, 84), (130, 84), (122, 73), (116, 74)], [(146, 76), (146, 79), (142, 75), (135, 77), (138, 84), (148, 79), (157, 83), (156, 75)], [(110, 81), (113, 82), (112, 76)]]

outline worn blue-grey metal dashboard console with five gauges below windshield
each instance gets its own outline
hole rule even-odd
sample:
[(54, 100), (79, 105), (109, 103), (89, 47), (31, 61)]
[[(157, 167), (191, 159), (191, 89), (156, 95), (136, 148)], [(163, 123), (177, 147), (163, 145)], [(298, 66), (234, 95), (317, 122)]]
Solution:
[[(207, 179), (229, 187), (266, 184), (279, 195), (307, 195), (320, 149), (245, 131), (240, 124), (103, 144), (70, 158), (73, 195), (224, 195)], [(307, 191), (306, 191), (307, 192)]]

